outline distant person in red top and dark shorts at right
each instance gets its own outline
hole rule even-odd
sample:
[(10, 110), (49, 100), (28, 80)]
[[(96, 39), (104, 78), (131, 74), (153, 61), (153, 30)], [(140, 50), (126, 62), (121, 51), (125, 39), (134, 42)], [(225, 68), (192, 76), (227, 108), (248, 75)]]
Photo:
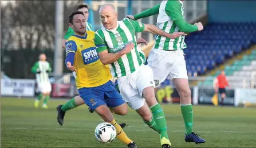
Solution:
[(226, 87), (229, 86), (229, 81), (225, 75), (225, 71), (221, 71), (220, 75), (216, 77), (215, 81), (215, 93), (219, 93), (221, 97), (221, 105), (224, 104), (224, 99), (226, 97)]

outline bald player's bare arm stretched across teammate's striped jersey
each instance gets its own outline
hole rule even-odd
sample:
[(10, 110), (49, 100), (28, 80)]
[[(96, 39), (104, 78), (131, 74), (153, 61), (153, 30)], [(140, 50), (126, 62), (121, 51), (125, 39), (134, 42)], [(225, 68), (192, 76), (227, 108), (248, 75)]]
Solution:
[(152, 24), (145, 24), (144, 31), (151, 32), (151, 34), (156, 34), (156, 35), (164, 36), (166, 38), (171, 38), (171, 39), (176, 39), (181, 35), (187, 35), (187, 34), (184, 34), (184, 32), (174, 32), (172, 34), (169, 34), (167, 32), (164, 32), (163, 30), (160, 30), (158, 27)]

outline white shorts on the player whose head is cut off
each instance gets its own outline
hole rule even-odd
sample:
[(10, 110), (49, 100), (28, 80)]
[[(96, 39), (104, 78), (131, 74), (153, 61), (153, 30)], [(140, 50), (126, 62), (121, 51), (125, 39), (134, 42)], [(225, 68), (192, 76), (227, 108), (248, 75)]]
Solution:
[(152, 49), (148, 55), (148, 65), (152, 68), (156, 87), (160, 87), (168, 76), (171, 80), (188, 79), (183, 50)]

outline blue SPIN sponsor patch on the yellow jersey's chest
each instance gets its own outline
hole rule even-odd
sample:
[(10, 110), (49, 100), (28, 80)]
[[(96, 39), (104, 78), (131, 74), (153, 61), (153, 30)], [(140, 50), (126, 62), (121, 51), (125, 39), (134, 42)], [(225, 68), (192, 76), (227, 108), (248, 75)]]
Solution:
[(94, 61), (100, 59), (99, 55), (97, 54), (96, 47), (90, 47), (82, 50), (81, 54), (85, 65), (93, 63)]

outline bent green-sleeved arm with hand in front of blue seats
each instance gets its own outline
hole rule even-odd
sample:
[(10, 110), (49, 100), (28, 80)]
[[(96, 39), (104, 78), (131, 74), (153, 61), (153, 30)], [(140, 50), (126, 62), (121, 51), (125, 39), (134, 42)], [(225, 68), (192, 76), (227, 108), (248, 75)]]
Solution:
[(203, 30), (202, 23), (195, 23), (194, 25), (186, 22), (182, 15), (182, 6), (178, 1), (168, 1), (165, 8), (166, 14), (174, 20), (175, 24), (182, 32), (194, 32)]

